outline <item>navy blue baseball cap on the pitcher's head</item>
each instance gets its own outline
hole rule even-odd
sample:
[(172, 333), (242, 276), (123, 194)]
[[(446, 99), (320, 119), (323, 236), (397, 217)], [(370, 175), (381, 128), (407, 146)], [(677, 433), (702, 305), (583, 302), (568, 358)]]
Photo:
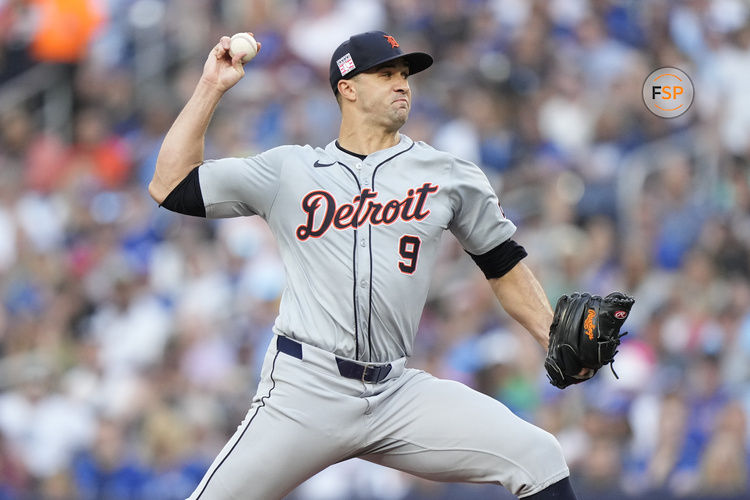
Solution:
[(403, 58), (409, 74), (419, 73), (432, 65), (432, 56), (424, 52), (401, 50), (398, 42), (383, 31), (368, 31), (353, 35), (333, 52), (331, 57), (331, 89), (338, 92), (339, 80), (346, 80), (384, 62)]

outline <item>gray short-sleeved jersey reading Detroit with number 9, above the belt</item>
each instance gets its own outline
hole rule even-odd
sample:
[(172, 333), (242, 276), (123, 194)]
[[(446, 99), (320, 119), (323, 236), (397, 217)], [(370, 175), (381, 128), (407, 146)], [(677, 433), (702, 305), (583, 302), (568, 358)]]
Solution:
[(257, 214), (276, 236), (275, 333), (355, 360), (411, 354), (444, 230), (483, 254), (516, 229), (476, 165), (404, 135), (364, 160), (335, 141), (281, 146), (199, 177), (207, 217)]

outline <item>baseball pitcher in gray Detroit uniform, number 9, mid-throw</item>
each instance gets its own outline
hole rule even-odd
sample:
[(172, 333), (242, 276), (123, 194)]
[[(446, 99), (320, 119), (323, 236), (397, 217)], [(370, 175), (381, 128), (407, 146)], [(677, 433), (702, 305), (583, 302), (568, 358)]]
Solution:
[(229, 40), (212, 49), (167, 133), (149, 192), (183, 214), (262, 217), (287, 286), (247, 416), (190, 499), (282, 498), (353, 457), (522, 498), (574, 499), (551, 434), (407, 366), (438, 240), (453, 233), (505, 310), (549, 344), (545, 366), (558, 387), (611, 363), (632, 299), (575, 294), (553, 312), (482, 171), (399, 133), (409, 78), (432, 57), (405, 53), (387, 33), (352, 36), (331, 57), (336, 140), (205, 160), (212, 113), (244, 75)]

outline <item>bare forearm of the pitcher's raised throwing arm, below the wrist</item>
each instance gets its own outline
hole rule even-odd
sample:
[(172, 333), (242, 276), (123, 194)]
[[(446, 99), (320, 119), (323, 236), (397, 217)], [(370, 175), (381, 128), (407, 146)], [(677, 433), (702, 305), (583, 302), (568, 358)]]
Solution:
[(162, 203), (196, 166), (203, 163), (206, 130), (223, 92), (201, 79), (167, 132), (156, 160), (149, 193)]

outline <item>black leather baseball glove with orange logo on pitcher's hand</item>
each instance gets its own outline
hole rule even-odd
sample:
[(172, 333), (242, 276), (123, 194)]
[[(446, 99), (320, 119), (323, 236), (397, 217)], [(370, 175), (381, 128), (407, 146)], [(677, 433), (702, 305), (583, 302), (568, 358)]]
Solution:
[[(544, 360), (550, 383), (564, 389), (590, 379), (606, 364), (612, 368), (620, 337), (625, 335), (620, 328), (633, 302), (633, 297), (620, 292), (604, 298), (588, 293), (560, 297)], [(587, 376), (580, 376), (583, 368), (589, 368)]]

